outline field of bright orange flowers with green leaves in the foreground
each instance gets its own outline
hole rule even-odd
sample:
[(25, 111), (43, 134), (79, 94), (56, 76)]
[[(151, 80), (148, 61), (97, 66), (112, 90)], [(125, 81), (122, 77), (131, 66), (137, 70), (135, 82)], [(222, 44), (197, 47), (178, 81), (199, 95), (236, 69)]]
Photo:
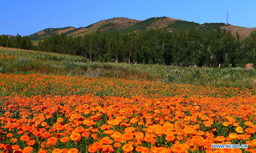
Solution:
[(2, 152), (256, 152), (251, 89), (42, 74), (0, 80)]

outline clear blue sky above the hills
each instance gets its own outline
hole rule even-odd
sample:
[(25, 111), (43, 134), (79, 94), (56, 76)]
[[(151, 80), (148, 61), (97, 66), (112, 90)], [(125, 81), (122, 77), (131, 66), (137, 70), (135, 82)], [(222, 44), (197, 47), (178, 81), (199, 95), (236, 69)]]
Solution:
[(0, 35), (30, 35), (46, 28), (86, 27), (99, 20), (127, 17), (144, 20), (168, 16), (175, 19), (226, 22), (256, 27), (256, 1), (238, 0), (0, 0)]

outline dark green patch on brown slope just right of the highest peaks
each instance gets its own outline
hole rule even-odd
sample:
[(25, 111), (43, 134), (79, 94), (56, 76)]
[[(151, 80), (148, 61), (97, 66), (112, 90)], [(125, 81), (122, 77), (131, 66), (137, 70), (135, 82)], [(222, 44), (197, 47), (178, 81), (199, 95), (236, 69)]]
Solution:
[(173, 30), (188, 30), (191, 28), (196, 28), (200, 24), (196, 22), (189, 22), (189, 21), (175, 21), (173, 24), (169, 24), (167, 28), (173, 28)]

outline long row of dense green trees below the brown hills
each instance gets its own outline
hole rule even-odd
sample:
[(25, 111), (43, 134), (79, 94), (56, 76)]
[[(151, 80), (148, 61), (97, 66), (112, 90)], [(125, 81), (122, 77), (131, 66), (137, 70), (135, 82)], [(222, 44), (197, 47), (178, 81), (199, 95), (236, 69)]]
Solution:
[[(20, 41), (23, 39), (28, 37), (19, 36)], [(20, 45), (8, 46), (5, 41), (6, 36), (1, 36), (1, 46), (80, 55), (100, 62), (207, 67), (219, 67), (219, 64), (223, 67), (230, 64), (244, 67), (247, 63), (256, 63), (256, 31), (244, 39), (238, 33), (233, 36), (220, 28), (211, 31), (177, 30), (172, 33), (166, 29), (129, 34), (97, 31), (83, 37), (55, 34), (39, 41), (37, 46), (30, 44), (26, 48), (23, 43), (17, 43), (17, 38), (8, 38), (8, 41)]]

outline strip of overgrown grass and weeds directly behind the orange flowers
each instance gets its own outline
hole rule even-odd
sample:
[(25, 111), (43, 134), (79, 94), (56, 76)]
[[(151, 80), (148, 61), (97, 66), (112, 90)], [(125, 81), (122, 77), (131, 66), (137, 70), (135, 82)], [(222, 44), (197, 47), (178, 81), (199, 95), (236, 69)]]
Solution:
[[(34, 52), (35, 54), (42, 55), (40, 52)], [(16, 57), (0, 56), (0, 72), (87, 75), (89, 77), (175, 82), (202, 86), (256, 88), (255, 69), (188, 68), (165, 65), (98, 62), (84, 63), (75, 62), (75, 60), (67, 61), (65, 58), (52, 61), (46, 58), (35, 59), (35, 57), (38, 56), (26, 56), (26, 54), (16, 54)], [(76, 56), (70, 57), (76, 58)]]

